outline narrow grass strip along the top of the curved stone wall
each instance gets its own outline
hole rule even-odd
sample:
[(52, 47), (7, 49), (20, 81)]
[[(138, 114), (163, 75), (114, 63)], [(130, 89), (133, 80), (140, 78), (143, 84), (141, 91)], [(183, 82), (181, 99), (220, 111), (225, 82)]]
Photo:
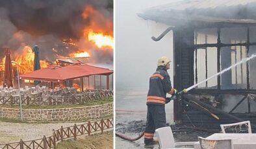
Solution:
[[(113, 102), (113, 97), (93, 100), (84, 104), (60, 104), (60, 105), (22, 105), (23, 109), (58, 109), (58, 108), (75, 108), (81, 106), (96, 106)], [(19, 105), (0, 105), (0, 108), (19, 108)]]

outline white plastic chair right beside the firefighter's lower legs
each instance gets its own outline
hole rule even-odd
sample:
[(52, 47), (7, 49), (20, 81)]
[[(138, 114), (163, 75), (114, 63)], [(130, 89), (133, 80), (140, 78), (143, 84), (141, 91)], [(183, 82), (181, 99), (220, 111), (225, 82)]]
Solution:
[[(155, 130), (159, 140), (160, 149), (175, 148), (175, 146), (194, 146), (196, 142), (179, 142), (175, 143), (172, 128), (170, 126), (158, 128)], [(191, 149), (191, 148), (190, 148)]]

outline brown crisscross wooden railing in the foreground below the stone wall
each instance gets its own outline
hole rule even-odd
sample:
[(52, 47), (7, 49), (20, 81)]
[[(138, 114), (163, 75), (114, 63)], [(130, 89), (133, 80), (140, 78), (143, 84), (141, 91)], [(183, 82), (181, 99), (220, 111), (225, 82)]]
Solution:
[(16, 143), (7, 143), (0, 144), (0, 148), (2, 149), (47, 149), (47, 148), (55, 148), (58, 142), (63, 141), (65, 139), (73, 137), (77, 139), (80, 135), (91, 135), (92, 133), (103, 133), (104, 130), (108, 130), (113, 128), (113, 119), (101, 119), (100, 121), (95, 122), (86, 122), (85, 124), (74, 125), (70, 127), (63, 128), (61, 126), (58, 130), (53, 130), (53, 135), (50, 137), (44, 137), (42, 139), (36, 139), (31, 141), (23, 141), (20, 140)]

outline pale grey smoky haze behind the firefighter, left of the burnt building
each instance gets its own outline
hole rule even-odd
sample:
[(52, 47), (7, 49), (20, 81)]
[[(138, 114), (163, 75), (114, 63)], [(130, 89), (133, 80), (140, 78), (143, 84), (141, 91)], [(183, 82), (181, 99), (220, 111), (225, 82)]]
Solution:
[[(157, 60), (162, 56), (173, 59), (172, 31), (160, 41), (151, 40), (158, 37), (167, 25), (146, 21), (137, 16), (151, 6), (170, 3), (167, 0), (118, 0), (115, 3), (115, 106), (119, 110), (144, 111), (140, 115), (122, 115), (122, 120), (146, 119), (146, 97), (149, 77), (157, 69)], [(173, 82), (173, 63), (168, 70)], [(170, 96), (170, 95), (168, 95)], [(166, 105), (166, 121), (173, 122), (173, 102)]]

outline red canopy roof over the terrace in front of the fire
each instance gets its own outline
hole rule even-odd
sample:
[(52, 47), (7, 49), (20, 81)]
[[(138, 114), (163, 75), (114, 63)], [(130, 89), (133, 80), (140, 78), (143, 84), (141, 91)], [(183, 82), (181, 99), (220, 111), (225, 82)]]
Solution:
[(20, 76), (23, 80), (44, 80), (59, 82), (60, 80), (70, 80), (90, 75), (110, 75), (113, 71), (109, 69), (95, 67), (92, 65), (68, 65), (66, 67), (48, 67)]

